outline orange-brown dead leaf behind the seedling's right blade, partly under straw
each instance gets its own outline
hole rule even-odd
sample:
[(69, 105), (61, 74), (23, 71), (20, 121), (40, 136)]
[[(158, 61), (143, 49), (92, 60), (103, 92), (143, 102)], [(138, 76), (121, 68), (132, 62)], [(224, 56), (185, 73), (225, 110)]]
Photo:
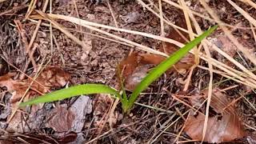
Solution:
[[(176, 23), (178, 26), (186, 29), (186, 22), (184, 18), (178, 18)], [(181, 32), (185, 38), (188, 38), (188, 34)], [(170, 34), (166, 38), (174, 39), (178, 42), (186, 43), (185, 38), (182, 38), (180, 34), (174, 29), (170, 30)], [(174, 44), (163, 42), (162, 47), (159, 51), (162, 51), (166, 54), (173, 54), (178, 50), (178, 46)], [(119, 69), (122, 72), (122, 78), (124, 80), (124, 86), (127, 90), (134, 90), (134, 87), (146, 77), (147, 72), (153, 66), (160, 64), (166, 58), (158, 54), (138, 54), (132, 53), (128, 55), (127, 58), (123, 59), (120, 62)], [(166, 71), (166, 74), (177, 70), (178, 73), (186, 73), (186, 70), (189, 70), (191, 66), (194, 65), (194, 55), (187, 54), (179, 62), (177, 62), (170, 70)]]

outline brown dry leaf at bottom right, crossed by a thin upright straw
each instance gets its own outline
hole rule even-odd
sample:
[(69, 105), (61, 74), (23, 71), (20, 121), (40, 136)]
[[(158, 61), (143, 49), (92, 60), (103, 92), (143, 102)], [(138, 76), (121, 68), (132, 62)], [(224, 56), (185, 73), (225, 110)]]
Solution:
[[(207, 97), (207, 90), (204, 94)], [(225, 94), (218, 89), (213, 90), (210, 106), (216, 114), (208, 120), (204, 142), (228, 142), (246, 135), (234, 106), (223, 110), (229, 103)], [(205, 115), (200, 113), (196, 116), (189, 115), (184, 131), (193, 140), (202, 141), (204, 119)]]

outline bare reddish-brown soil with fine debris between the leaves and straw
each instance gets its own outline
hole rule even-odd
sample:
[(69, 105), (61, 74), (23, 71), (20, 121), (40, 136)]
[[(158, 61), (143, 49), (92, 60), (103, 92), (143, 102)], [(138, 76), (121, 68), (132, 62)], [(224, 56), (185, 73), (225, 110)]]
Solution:
[[(74, 2), (79, 14), (76, 12)], [(206, 10), (200, 6), (199, 2), (191, 0), (188, 1), (188, 3), (190, 3), (190, 9), (205, 14), (206, 16), (208, 15), (206, 14)], [(255, 9), (244, 5), (242, 2), (236, 1), (236, 3), (241, 6), (243, 10), (246, 10), (252, 17), (256, 18)], [(147, 2), (147, 4), (149, 4), (149, 2)], [(154, 1), (154, 4), (158, 6), (158, 1)], [(24, 38), (22, 38), (17, 25), (14, 23), (14, 20), (19, 20), (22, 23), (24, 34), (26, 35), (28, 42), (30, 42), (30, 38), (34, 33), (36, 25), (33, 22), (30, 22), (30, 20), (24, 20), (28, 5), (29, 2), (23, 0), (0, 2), (0, 76), (10, 72), (16, 72), (17, 75), (14, 76), (14, 79), (20, 79), (22, 78), (21, 71), (28, 75), (34, 74), (34, 67), (29, 63), (30, 58), (28, 54), (26, 54)], [(250, 27), (250, 23), (247, 22), (234, 7), (230, 6), (228, 2), (214, 0), (210, 1), (209, 5), (217, 11), (223, 22), (233, 26)], [(17, 6), (22, 7), (16, 9)], [(43, 3), (38, 2), (36, 4), (36, 9), (42, 10), (42, 6)], [(116, 0), (110, 1), (110, 6), (112, 7), (119, 28), (137, 30), (155, 35), (161, 33), (159, 19), (150, 11), (145, 10), (145, 8), (138, 4), (138, 2), (119, 2)], [(170, 22), (176, 24), (185, 22), (182, 10), (178, 10), (174, 6), (167, 5), (164, 2), (162, 2), (162, 10), (165, 12), (166, 18), (168, 18)], [(48, 12), (49, 10), (47, 13)], [(116, 26), (106, 1), (99, 2), (96, 5), (91, 1), (58, 0), (54, 1), (52, 4), (52, 13), (86, 19), (90, 22), (97, 22), (106, 26)], [(214, 22), (209, 22), (204, 18), (196, 18), (202, 30), (207, 30), (210, 26), (214, 25)], [(47, 23), (46, 21), (42, 22)], [(134, 49), (130, 46), (125, 46), (118, 42), (110, 42), (104, 38), (90, 35), (102, 34), (88, 30), (82, 26), (77, 26), (62, 20), (57, 20), (57, 22), (67, 30), (70, 30), (70, 32), (82, 40), (82, 42), (85, 42), (86, 46), (90, 49), (89, 53), (87, 53), (87, 50), (83, 49), (82, 46), (78, 46), (76, 42), (68, 38), (66, 34), (63, 34), (61, 31), (54, 28), (53, 35), (56, 41), (54, 40), (54, 47), (53, 50), (51, 50), (49, 27), (40, 26), (38, 35), (34, 41), (34, 46), (37, 46), (34, 51), (34, 61), (37, 66), (40, 66), (41, 64), (56, 66), (69, 72), (71, 76), (69, 86), (83, 83), (103, 83), (117, 88), (119, 85), (118, 78), (116, 77), (116, 67), (118, 66), (118, 63), (133, 51), (139, 52), (140, 54), (146, 54), (146, 52)], [(246, 45), (252, 52), (254, 52), (256, 42), (254, 41), (254, 35), (250, 29), (233, 30), (233, 28), (230, 28), (230, 30), (237, 36), (239, 42)], [(162, 42), (153, 38), (146, 38), (135, 34), (119, 33), (114, 30), (107, 31), (130, 41), (138, 42), (143, 46), (150, 46), (155, 50), (159, 50), (162, 47)], [(166, 36), (168, 34), (172, 35), (174, 29), (170, 26), (166, 26), (165, 32)], [(218, 31), (211, 37), (217, 38), (221, 34), (222, 32)], [(176, 36), (172, 36), (173, 39), (176, 38)], [(177, 38), (179, 38), (179, 36), (177, 36)], [(182, 42), (185, 41), (183, 40)], [(253, 69), (254, 66), (250, 61), (238, 53), (234, 54), (234, 58), (238, 60), (238, 62), (241, 62), (242, 65), (246, 66), (246, 68), (250, 70)], [(218, 54), (213, 53), (213, 58), (218, 59)], [(219, 58), (218, 60), (222, 61), (221, 59), (222, 58)], [(200, 62), (200, 65), (207, 66), (206, 62), (203, 61)], [(50, 126), (48, 127), (41, 126), (40, 129), (31, 130), (23, 135), (7, 133), (4, 137), (0, 137), (0, 139), (5, 139), (5, 141), (2, 142), (22, 142), (18, 139), (18, 137), (21, 137), (26, 142), (31, 143), (34, 142), (33, 138), (44, 139), (50, 143), (78, 142), (78, 140), (94, 143), (172, 143), (186, 121), (186, 118), (180, 117), (180, 115), (189, 110), (189, 108), (184, 106), (181, 102), (174, 100), (172, 94), (184, 93), (182, 90), (187, 75), (188, 70), (185, 71), (184, 74), (172, 72), (171, 74), (163, 75), (158, 81), (150, 85), (146, 90), (146, 94), (142, 94), (140, 98), (138, 98), (137, 102), (145, 106), (135, 105), (133, 110), (131, 110), (131, 113), (126, 115), (122, 114), (122, 107), (118, 104), (114, 110), (114, 114), (111, 116), (111, 122), (108, 121), (104, 123), (108, 119), (106, 114), (113, 105), (114, 100), (111, 98), (91, 97), (94, 103), (100, 103), (99, 106), (102, 107), (96, 109), (95, 106), (93, 106), (97, 114), (94, 110), (94, 112), (85, 113), (84, 127), (76, 135), (73, 133), (58, 133), (58, 130), (56, 130), (57, 128), (52, 128), (54, 127), (54, 123), (50, 123)], [(209, 79), (208, 71), (199, 68), (195, 69), (192, 74), (192, 84), (187, 92), (190, 93), (198, 87), (202, 90), (205, 89), (208, 87)], [(238, 82), (231, 80), (221, 82), (223, 79), (222, 76), (214, 74), (214, 86), (224, 89), (229, 86), (238, 85), (238, 87), (224, 92), (228, 99), (233, 100), (239, 98), (241, 95), (245, 95), (247, 100), (245, 98), (240, 99), (236, 102), (235, 107), (236, 110), (238, 110), (239, 116), (242, 118), (242, 122), (246, 123), (246, 134), (250, 135), (250, 137), (254, 137), (254, 135), (256, 135), (256, 110), (253, 106), (250, 106), (250, 103), (255, 106), (255, 93), (250, 88), (243, 86)], [(54, 89), (56, 88), (53, 86), (52, 90)], [(166, 92), (166, 90), (168, 91)], [(1, 89), (1, 91), (4, 91), (4, 88)], [(130, 92), (128, 93), (130, 94)], [(6, 96), (1, 97), (2, 104), (5, 104)], [(72, 102), (75, 101), (76, 98), (70, 98), (63, 100), (58, 103), (58, 105), (61, 108), (62, 106), (70, 107)], [(152, 109), (146, 106), (153, 106), (154, 108)], [(161, 110), (156, 110), (158, 108)], [(0, 106), (0, 110), (4, 109), (5, 106)], [(48, 107), (44, 106), (41, 112), (38, 111), (38, 114), (49, 113), (53, 109), (56, 109), (56, 107), (52, 105)], [(97, 110), (99, 110), (99, 112)], [(42, 115), (42, 118), (47, 117), (45, 114)], [(176, 122), (175, 120), (177, 118), (179, 119)], [(6, 127), (6, 118), (0, 119), (0, 122), (0, 127), (4, 130)], [(65, 130), (67, 129), (69, 128), (66, 128)], [(35, 136), (37, 134), (38, 137)], [(28, 137), (24, 137), (24, 135), (27, 135)], [(49, 141), (48, 138), (50, 138)], [(54, 141), (52, 139), (54, 139)], [(180, 141), (186, 140), (190, 140), (190, 138), (182, 132)], [(247, 142), (247, 140), (246, 138), (243, 138), (242, 140), (240, 139), (240, 141), (237, 141), (237, 143), (238, 142)]]

